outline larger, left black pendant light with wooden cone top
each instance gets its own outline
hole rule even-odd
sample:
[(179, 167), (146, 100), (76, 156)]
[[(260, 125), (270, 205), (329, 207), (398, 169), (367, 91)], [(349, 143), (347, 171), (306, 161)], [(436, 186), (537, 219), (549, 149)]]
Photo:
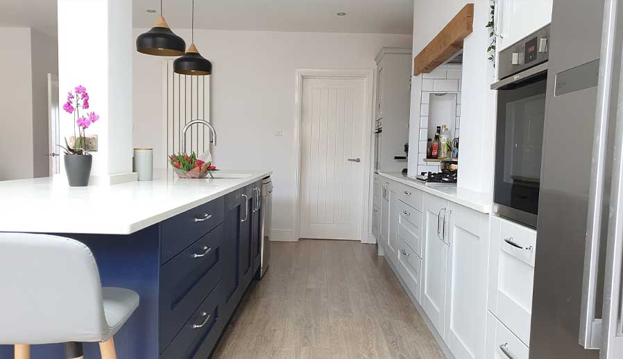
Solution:
[(155, 56), (179, 56), (184, 53), (186, 42), (169, 28), (162, 16), (162, 0), (160, 0), (160, 18), (155, 26), (136, 39), (136, 51)]

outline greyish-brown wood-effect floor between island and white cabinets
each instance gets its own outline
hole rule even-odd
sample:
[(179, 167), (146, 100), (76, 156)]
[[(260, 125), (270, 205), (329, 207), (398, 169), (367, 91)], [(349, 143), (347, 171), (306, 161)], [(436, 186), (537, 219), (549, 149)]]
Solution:
[(376, 245), (272, 243), (215, 359), (445, 358)]

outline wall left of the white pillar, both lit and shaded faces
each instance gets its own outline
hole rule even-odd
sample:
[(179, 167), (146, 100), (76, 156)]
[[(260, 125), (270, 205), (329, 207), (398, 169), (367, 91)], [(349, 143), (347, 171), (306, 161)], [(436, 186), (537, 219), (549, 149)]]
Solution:
[(0, 57), (0, 180), (49, 175), (47, 73), (58, 73), (56, 38), (31, 28), (0, 28), (10, 56)]

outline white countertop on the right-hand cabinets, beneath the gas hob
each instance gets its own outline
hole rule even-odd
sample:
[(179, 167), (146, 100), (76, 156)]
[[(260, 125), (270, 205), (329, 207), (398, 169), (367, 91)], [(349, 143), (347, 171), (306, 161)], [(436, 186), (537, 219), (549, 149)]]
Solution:
[(437, 197), (441, 197), (456, 204), (461, 204), (461, 206), (474, 209), (475, 211), (482, 213), (490, 213), (491, 211), (491, 199), (490, 195), (487, 193), (479, 193), (468, 189), (457, 188), (456, 184), (427, 185), (425, 182), (407, 177), (407, 175), (400, 172), (379, 172), (378, 174), (389, 180), (406, 184), (414, 189), (436, 195)]

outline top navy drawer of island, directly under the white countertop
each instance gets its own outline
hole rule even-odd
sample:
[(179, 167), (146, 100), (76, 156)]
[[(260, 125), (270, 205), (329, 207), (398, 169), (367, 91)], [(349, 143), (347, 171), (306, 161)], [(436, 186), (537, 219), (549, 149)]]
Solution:
[(166, 263), (189, 244), (221, 224), (225, 216), (224, 202), (223, 197), (216, 198), (162, 222), (160, 263)]

